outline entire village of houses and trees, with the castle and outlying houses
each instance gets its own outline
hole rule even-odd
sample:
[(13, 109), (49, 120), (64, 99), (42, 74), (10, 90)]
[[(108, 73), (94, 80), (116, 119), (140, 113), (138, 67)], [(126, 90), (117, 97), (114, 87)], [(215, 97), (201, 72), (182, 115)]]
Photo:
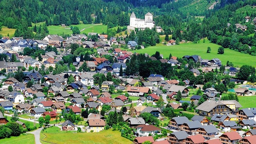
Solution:
[[(132, 13), (128, 29), (135, 28), (156, 28), (153, 15), (141, 20)], [(20, 133), (32, 134), (113, 129), (134, 144), (255, 144), (256, 108), (239, 103), (256, 94), (255, 68), (199, 55), (136, 53), (144, 49), (136, 41), (93, 32), (3, 37), (0, 124), (17, 123)]]

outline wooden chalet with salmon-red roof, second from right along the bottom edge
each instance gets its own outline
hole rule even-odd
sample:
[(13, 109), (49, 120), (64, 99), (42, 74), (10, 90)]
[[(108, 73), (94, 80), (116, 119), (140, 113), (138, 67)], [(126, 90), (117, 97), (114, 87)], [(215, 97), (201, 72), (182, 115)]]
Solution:
[(237, 132), (225, 132), (220, 136), (222, 144), (235, 144), (238, 143), (242, 137)]

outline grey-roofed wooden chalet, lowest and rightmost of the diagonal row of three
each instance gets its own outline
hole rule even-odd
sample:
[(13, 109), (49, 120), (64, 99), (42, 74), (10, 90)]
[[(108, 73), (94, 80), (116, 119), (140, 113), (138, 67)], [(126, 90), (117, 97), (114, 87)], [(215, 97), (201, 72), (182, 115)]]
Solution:
[(219, 134), (219, 130), (214, 125), (204, 125), (202, 128), (199, 128), (197, 132), (202, 134), (206, 140), (214, 138), (215, 135)]

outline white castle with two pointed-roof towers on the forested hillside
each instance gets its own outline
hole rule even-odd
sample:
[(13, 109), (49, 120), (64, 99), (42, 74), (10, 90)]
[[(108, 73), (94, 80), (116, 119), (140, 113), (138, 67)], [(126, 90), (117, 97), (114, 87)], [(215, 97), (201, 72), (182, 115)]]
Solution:
[(134, 12), (132, 12), (130, 16), (130, 26), (127, 26), (128, 29), (134, 30), (134, 28), (140, 28), (140, 29), (145, 29), (145, 28), (154, 28), (155, 26), (155, 21), (153, 21), (153, 15), (148, 12), (145, 14), (145, 20), (143, 19), (137, 19)]

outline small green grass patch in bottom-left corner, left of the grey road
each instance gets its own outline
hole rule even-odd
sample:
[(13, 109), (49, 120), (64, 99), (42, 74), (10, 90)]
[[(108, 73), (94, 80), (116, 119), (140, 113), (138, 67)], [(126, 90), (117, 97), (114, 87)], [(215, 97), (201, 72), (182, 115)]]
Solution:
[(28, 143), (35, 144), (35, 137), (33, 134), (23, 133), (18, 137), (5, 138), (0, 140), (0, 143), (5, 144), (17, 144), (17, 143)]

